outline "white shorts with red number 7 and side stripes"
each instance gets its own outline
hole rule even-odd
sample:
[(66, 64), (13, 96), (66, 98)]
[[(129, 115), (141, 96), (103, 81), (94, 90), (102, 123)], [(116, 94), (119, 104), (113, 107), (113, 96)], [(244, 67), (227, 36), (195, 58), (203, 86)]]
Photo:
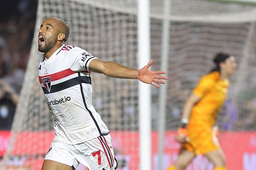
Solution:
[(67, 164), (73, 169), (79, 163), (89, 170), (114, 170), (117, 167), (110, 135), (73, 145), (54, 140), (45, 159)]

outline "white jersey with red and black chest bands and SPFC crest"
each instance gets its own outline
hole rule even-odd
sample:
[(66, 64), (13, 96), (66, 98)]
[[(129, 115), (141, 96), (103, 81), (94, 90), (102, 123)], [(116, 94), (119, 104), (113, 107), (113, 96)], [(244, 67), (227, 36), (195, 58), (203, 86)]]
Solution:
[(89, 63), (93, 59), (97, 57), (70, 45), (40, 59), (38, 78), (53, 114), (55, 140), (78, 144), (109, 134), (92, 105)]

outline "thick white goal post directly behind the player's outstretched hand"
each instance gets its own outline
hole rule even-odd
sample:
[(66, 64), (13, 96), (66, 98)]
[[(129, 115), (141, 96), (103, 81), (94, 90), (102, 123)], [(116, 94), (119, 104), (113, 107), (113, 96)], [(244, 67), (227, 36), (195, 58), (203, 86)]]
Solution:
[[(149, 62), (150, 57), (150, 3), (149, 0), (138, 1), (138, 65), (143, 68)], [(139, 156), (140, 170), (151, 170), (151, 90), (150, 86), (143, 82), (138, 85), (139, 98)]]

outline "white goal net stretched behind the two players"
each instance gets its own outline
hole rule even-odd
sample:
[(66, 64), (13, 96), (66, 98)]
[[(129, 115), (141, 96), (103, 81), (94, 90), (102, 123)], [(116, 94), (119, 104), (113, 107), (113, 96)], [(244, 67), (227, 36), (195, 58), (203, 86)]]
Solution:
[[(212, 58), (220, 51), (236, 58), (238, 70), (230, 79), (227, 104), (221, 111), (219, 125), (224, 130), (252, 130), (245, 122), (249, 114), (246, 107), (255, 97), (256, 89), (256, 6), (220, 0), (170, 2), (168, 15), (163, 14), (164, 0), (151, 0), (150, 3), (151, 58), (154, 59), (151, 69), (161, 69), (163, 21), (169, 21), (166, 130), (177, 129), (184, 100), (199, 78), (214, 66)], [(41, 56), (38, 29), (42, 21), (47, 17), (60, 17), (70, 25), (67, 45), (84, 48), (105, 61), (137, 68), (137, 57), (143, 57), (137, 56), (137, 10), (137, 0), (38, 0), (29, 62), (10, 143), (0, 169), (40, 170), (54, 136), (52, 114), (38, 82)], [(91, 76), (93, 104), (111, 130), (119, 168), (138, 170), (138, 81), (94, 73)], [(151, 91), (154, 154), (159, 102), (163, 101), (159, 99), (159, 89), (151, 88)], [(237, 115), (234, 120), (225, 122), (230, 118), (230, 109), (236, 109)], [(155, 169), (155, 162), (152, 162)]]

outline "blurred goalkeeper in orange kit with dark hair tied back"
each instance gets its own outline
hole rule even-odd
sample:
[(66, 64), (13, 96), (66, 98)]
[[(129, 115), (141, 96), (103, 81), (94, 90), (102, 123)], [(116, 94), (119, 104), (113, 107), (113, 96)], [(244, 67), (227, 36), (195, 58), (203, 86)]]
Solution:
[(235, 58), (230, 54), (218, 53), (216, 65), (209, 74), (201, 77), (197, 87), (186, 99), (181, 126), (175, 139), (181, 143), (175, 163), (167, 170), (185, 170), (198, 154), (207, 156), (214, 170), (226, 170), (224, 153), (213, 129), (218, 111), (223, 105), (230, 77), (236, 69)]

